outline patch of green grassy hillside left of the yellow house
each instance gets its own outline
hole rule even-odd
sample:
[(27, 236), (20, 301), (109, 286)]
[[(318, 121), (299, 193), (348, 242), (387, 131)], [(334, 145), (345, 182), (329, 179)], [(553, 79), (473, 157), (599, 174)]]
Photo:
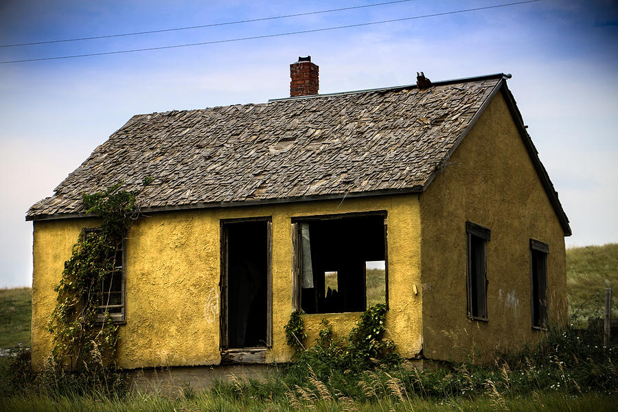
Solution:
[(30, 346), (32, 289), (0, 289), (0, 347)]

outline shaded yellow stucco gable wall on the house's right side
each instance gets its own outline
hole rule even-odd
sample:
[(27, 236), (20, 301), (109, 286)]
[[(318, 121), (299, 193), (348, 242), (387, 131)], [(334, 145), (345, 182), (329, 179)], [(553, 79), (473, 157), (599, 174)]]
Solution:
[[(542, 338), (531, 327), (529, 238), (549, 244), (549, 321), (565, 320), (564, 233), (500, 93), (420, 206), (424, 356), (483, 361)], [(488, 322), (466, 319), (466, 220), (491, 230)]]

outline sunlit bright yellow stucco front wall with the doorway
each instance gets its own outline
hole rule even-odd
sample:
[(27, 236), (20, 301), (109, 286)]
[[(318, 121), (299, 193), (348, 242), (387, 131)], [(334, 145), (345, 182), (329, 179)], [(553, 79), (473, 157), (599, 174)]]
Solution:
[[(420, 207), (415, 194), (254, 207), (147, 214), (126, 242), (126, 325), (120, 327), (119, 365), (125, 368), (220, 363), (220, 220), (271, 216), (273, 223), (273, 346), (268, 362), (288, 361), (284, 325), (292, 312), (291, 218), (386, 210), (389, 312), (386, 326), (403, 356), (422, 347)], [(51, 349), (45, 330), (58, 284), (83, 219), (34, 222), (32, 359), (41, 365)], [(321, 319), (347, 334), (358, 314), (305, 315), (309, 341)]]

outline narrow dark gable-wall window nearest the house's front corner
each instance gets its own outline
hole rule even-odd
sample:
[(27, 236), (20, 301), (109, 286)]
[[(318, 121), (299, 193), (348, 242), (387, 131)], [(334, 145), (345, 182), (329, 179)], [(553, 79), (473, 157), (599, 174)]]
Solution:
[(491, 231), (476, 223), (466, 222), (468, 249), (468, 317), (487, 321), (487, 242)]

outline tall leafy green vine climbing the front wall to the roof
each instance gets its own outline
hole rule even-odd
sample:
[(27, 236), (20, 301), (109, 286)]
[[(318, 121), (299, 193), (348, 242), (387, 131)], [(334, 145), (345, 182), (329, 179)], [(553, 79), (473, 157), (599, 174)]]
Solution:
[(118, 252), (130, 223), (139, 214), (135, 201), (138, 192), (119, 190), (120, 185), (83, 195), (87, 214), (98, 216), (101, 226), (89, 231), (88, 236), (81, 233), (54, 288), (58, 297), (48, 328), (54, 336), (52, 360), (63, 369), (93, 371), (113, 366), (115, 361), (118, 325), (108, 311), (101, 321), (95, 291), (120, 263), (116, 262), (121, 255)]

